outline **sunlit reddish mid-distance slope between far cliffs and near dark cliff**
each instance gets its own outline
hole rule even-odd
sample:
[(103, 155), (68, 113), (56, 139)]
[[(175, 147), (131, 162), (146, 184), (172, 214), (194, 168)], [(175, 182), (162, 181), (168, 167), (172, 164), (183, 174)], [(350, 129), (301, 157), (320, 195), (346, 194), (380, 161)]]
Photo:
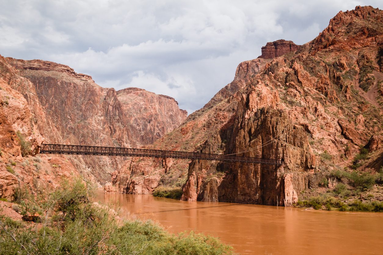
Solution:
[[(214, 141), (211, 151), (222, 153), (219, 130), (234, 116), (239, 99), (237, 92), (269, 62), (270, 60), (259, 58), (240, 63), (231, 83), (214, 95), (202, 109), (190, 114), (184, 124), (148, 147), (195, 151), (201, 149), (205, 141)], [(185, 160), (142, 158), (125, 162), (123, 167), (113, 173), (112, 182), (117, 192), (147, 194), (158, 185), (182, 186), (188, 178), (188, 167), (189, 162)], [(214, 169), (214, 166), (211, 169)], [(216, 178), (215, 172), (214, 170), (214, 173), (210, 173), (212, 178)]]

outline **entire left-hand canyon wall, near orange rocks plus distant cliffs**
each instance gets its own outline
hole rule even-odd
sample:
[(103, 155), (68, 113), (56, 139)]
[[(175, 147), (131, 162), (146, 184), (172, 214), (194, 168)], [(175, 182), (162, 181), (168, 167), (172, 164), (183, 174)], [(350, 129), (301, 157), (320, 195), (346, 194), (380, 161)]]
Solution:
[[(171, 97), (137, 88), (102, 88), (65, 65), (0, 57), (0, 67), (20, 85), (0, 77), (0, 197), (10, 197), (20, 185), (36, 190), (36, 180), (57, 185), (62, 175), (105, 184), (110, 172), (127, 159), (27, 155), (35, 154), (42, 142), (139, 147), (187, 117)], [(19, 137), (30, 144), (25, 155)]]

